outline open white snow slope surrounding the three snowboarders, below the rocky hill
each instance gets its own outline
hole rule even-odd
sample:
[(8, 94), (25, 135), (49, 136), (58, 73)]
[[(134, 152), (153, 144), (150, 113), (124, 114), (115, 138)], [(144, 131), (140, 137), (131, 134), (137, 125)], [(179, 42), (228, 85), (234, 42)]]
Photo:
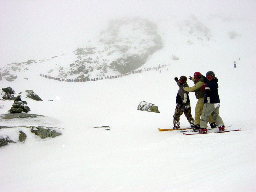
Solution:
[[(141, 73), (59, 82), (29, 70), (13, 82), (3, 79), (1, 86), (16, 92), (34, 90), (43, 101), (26, 99), (29, 113), (51, 117), (63, 135), (40, 140), (23, 130), (28, 135), (24, 144), (1, 148), (1, 191), (254, 191), (255, 37), (247, 28), (250, 22), (224, 24), (243, 26), (235, 31), (241, 36), (230, 39), (229, 29), (215, 27), (210, 41), (196, 42), (193, 35), (180, 35), (175, 23), (159, 22), (165, 47)], [(180, 59), (172, 60), (172, 55)], [(161, 71), (144, 71), (159, 64), (164, 65)], [(219, 79), (220, 116), (227, 129), (241, 131), (199, 136), (158, 131), (172, 127), (178, 91), (174, 77), (210, 70)], [(193, 93), (189, 97), (194, 114), (197, 101)], [(160, 113), (138, 111), (143, 100), (157, 105)], [(7, 113), (12, 103), (0, 100), (0, 113)], [(181, 125), (189, 125), (184, 116)]]

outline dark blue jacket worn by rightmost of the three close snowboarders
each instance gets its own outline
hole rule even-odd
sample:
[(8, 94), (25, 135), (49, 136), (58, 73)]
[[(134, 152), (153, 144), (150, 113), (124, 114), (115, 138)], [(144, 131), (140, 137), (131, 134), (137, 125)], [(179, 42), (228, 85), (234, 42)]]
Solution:
[(220, 103), (217, 82), (218, 79), (216, 77), (207, 82), (203, 103)]

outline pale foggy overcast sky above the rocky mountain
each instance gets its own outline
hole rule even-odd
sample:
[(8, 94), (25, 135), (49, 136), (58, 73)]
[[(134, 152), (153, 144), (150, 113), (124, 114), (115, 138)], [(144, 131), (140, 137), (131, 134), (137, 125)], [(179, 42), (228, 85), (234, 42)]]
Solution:
[(196, 14), (255, 16), (256, 0), (0, 0), (0, 67), (47, 59), (82, 47), (110, 19), (141, 16), (152, 21)]

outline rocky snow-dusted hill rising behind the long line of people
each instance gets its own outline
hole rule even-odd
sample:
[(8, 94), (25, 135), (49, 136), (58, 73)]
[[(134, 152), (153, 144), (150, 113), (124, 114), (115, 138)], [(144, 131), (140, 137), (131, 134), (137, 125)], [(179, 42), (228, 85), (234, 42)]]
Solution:
[(0, 70), (0, 76), (15, 79), (19, 72), (35, 66), (40, 74), (75, 81), (116, 76), (136, 70), (162, 47), (157, 25), (148, 19), (110, 20), (108, 28), (102, 30), (99, 36), (72, 53), (51, 59), (12, 63)]

